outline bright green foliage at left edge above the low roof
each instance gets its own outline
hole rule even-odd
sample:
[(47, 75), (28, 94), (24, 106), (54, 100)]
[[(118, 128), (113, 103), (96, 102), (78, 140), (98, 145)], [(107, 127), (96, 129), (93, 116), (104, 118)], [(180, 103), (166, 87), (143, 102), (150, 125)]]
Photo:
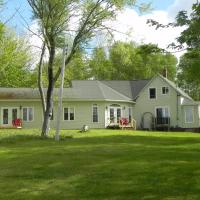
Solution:
[(26, 41), (0, 25), (0, 87), (32, 85)]

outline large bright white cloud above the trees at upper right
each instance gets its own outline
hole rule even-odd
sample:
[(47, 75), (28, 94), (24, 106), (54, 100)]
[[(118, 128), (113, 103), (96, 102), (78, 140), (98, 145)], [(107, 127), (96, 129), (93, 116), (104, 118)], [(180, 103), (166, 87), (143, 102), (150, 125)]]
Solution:
[[(166, 10), (155, 10), (150, 14), (139, 15), (133, 9), (126, 9), (117, 16), (117, 21), (113, 23), (113, 28), (119, 32), (128, 32), (129, 36), (121, 33), (114, 33), (116, 40), (135, 41), (137, 43), (158, 44), (160, 48), (166, 49), (167, 46), (176, 41), (183, 28), (164, 28), (155, 30), (146, 24), (147, 19), (154, 19), (162, 24), (173, 22), (175, 16), (180, 10), (191, 12), (192, 4), (196, 0), (175, 0), (175, 2)], [(169, 50), (170, 51), (170, 50)], [(184, 52), (174, 53), (179, 58)]]

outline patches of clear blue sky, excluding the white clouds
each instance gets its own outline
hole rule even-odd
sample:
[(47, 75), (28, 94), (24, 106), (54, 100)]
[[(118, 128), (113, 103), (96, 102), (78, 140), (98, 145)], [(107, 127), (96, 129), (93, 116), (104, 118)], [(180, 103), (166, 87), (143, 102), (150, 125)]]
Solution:
[[(151, 0), (154, 10), (167, 10), (167, 8), (174, 3), (175, 0)], [(27, 0), (7, 0), (1, 13), (1, 19), (6, 21), (10, 19), (9, 26), (14, 28), (18, 33), (23, 33), (25, 22), (24, 18), (29, 24), (31, 24), (31, 9), (27, 3)], [(149, 0), (140, 0), (139, 2), (149, 2)], [(19, 13), (16, 13), (16, 9)]]

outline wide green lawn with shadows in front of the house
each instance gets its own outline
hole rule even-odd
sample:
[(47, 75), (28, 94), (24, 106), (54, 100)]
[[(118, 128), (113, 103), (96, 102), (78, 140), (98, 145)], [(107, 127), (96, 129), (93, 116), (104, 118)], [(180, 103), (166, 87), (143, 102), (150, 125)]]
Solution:
[(200, 135), (0, 130), (2, 200), (199, 200)]

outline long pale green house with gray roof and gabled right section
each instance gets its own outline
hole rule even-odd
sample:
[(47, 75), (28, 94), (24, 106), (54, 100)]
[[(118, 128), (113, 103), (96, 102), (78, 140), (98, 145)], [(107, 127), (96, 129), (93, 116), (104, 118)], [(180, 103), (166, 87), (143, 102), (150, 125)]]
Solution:
[[(56, 125), (57, 94), (51, 127)], [(105, 128), (121, 118), (137, 122), (137, 129), (200, 127), (200, 102), (157, 75), (149, 80), (72, 81), (63, 92), (62, 129)], [(0, 126), (10, 127), (22, 119), (23, 128), (42, 126), (43, 113), (38, 89), (0, 88)]]

